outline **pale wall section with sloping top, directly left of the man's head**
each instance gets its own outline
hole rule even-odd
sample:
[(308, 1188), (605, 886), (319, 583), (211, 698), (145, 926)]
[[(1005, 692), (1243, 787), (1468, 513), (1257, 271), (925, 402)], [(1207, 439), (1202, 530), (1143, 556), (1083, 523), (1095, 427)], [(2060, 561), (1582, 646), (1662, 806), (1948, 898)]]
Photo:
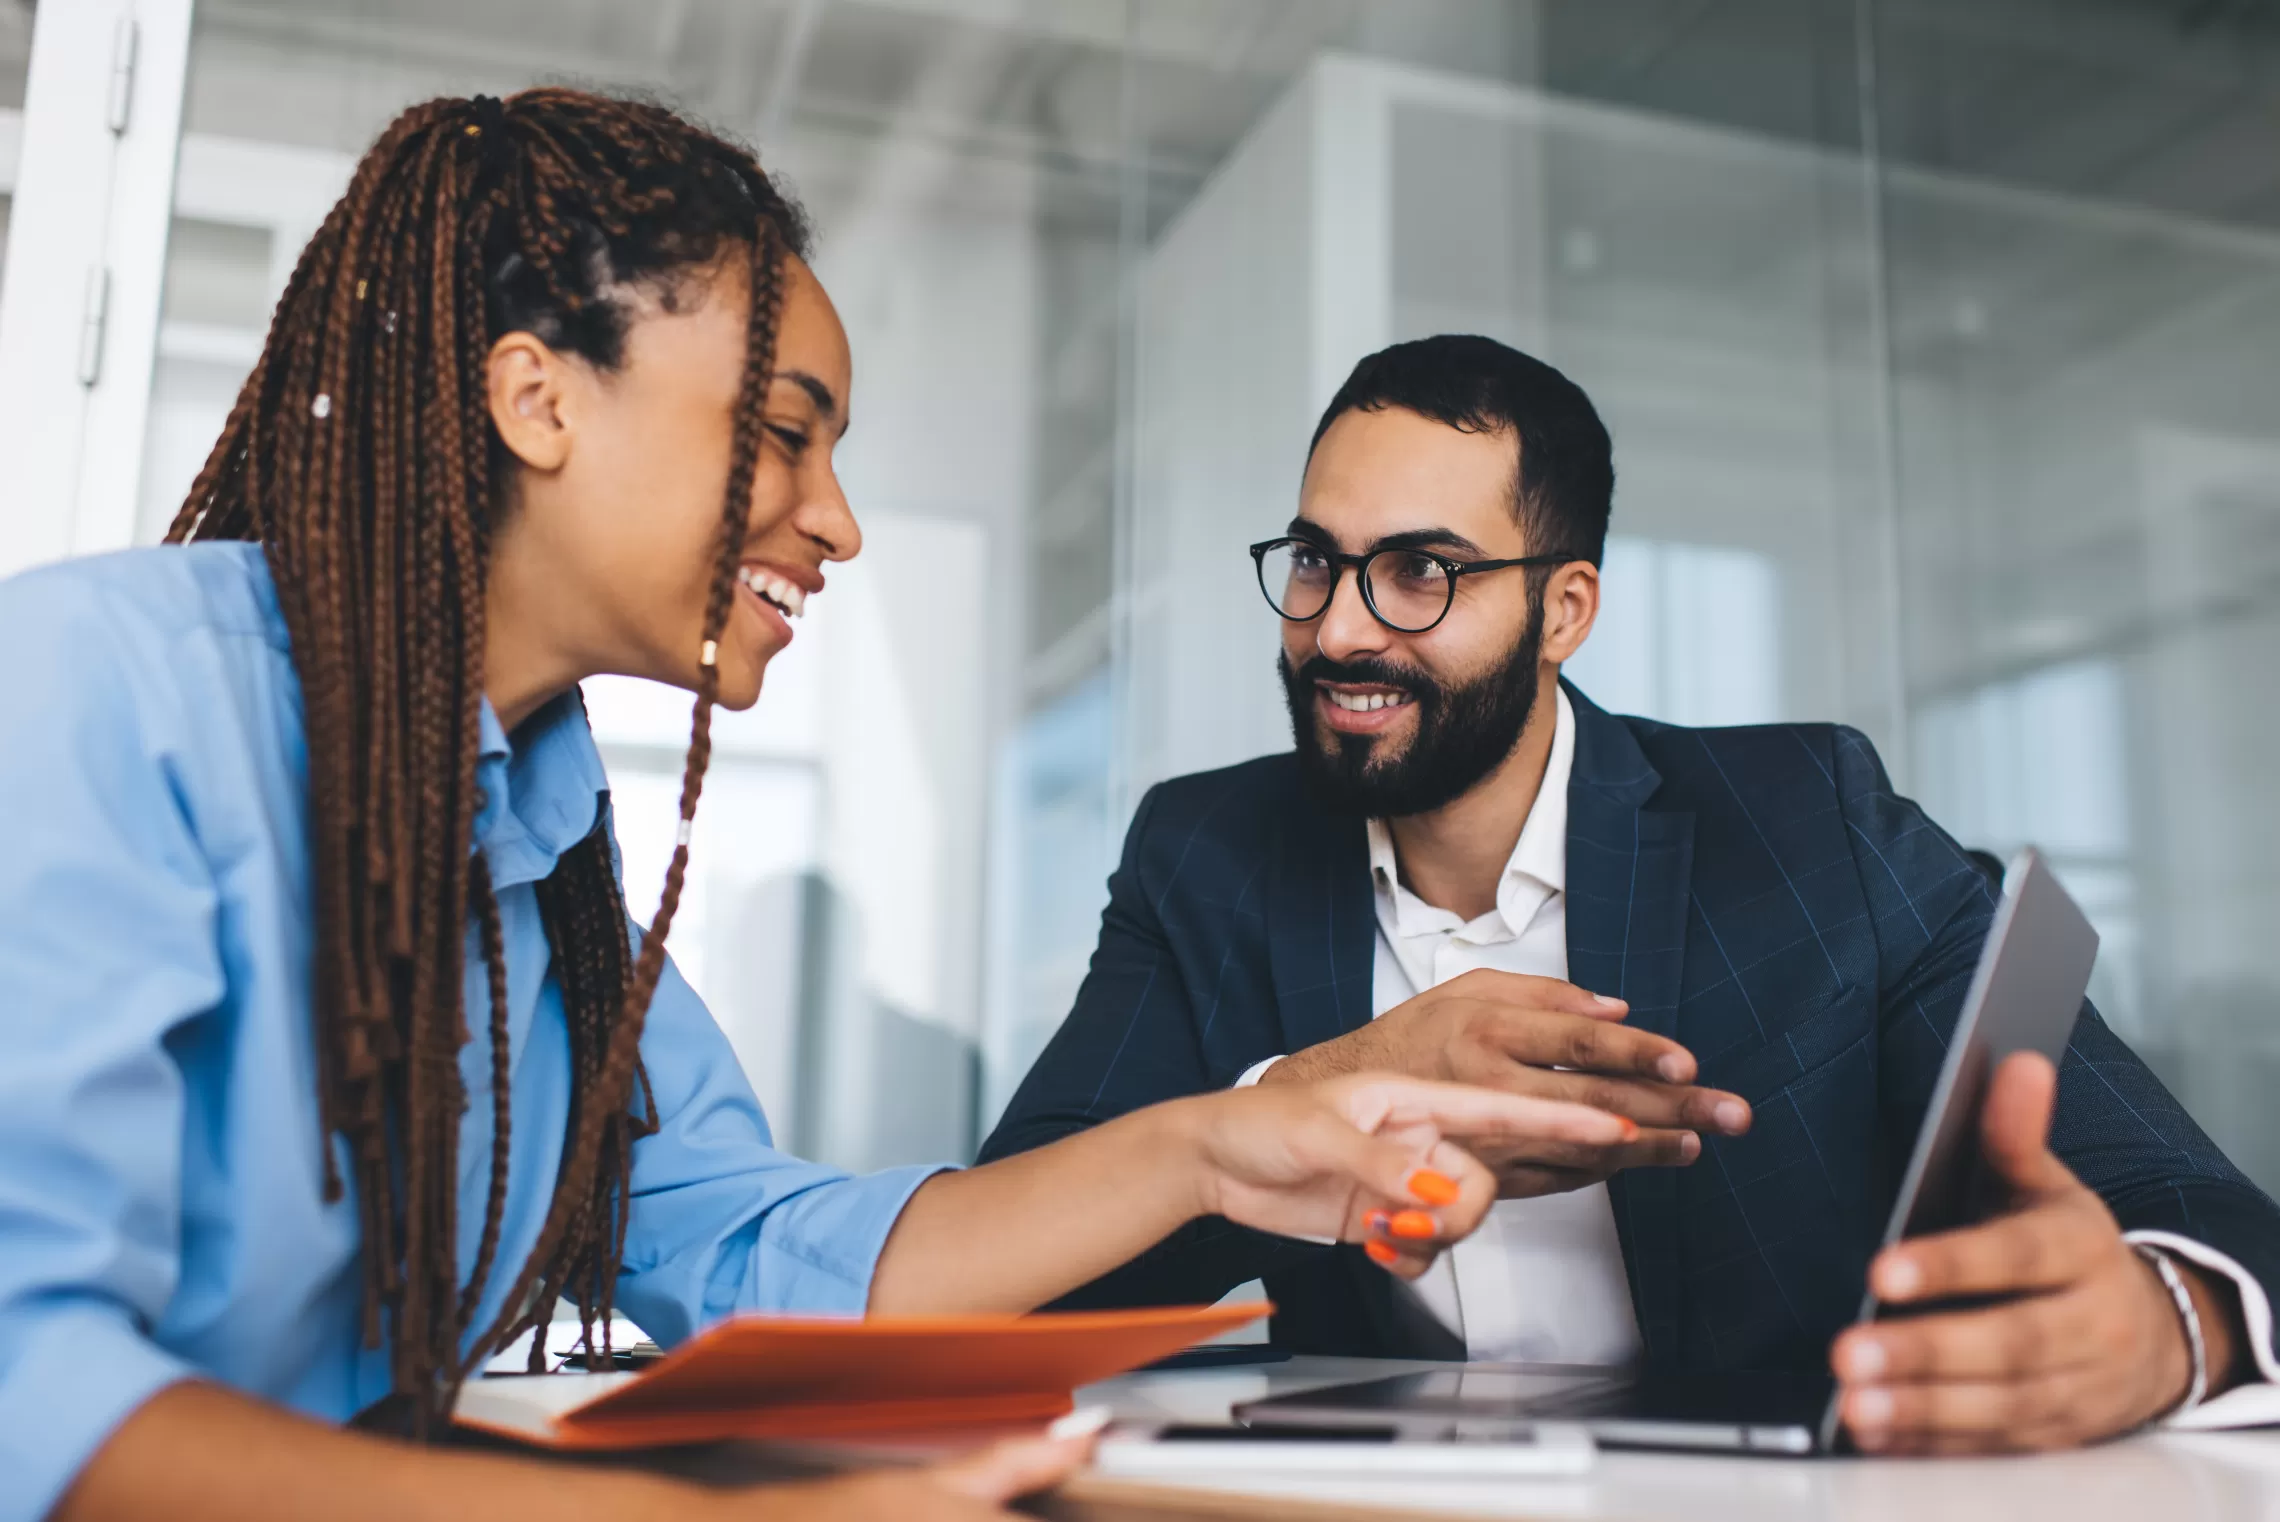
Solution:
[[(1359, 232), (1329, 226), (1352, 185), (1316, 175), (1338, 105), (1336, 75), (1302, 75), (1140, 276), (1124, 727), (1133, 800), (1163, 777), (1290, 743), (1275, 615), (1243, 547), (1297, 510), (1325, 383), (1336, 390), (1341, 360), (1384, 342), (1373, 255), (1384, 228), (1368, 216)], [(1363, 148), (1357, 180), (1373, 162), (1382, 155)], [(1343, 308), (1336, 335), (1322, 333), (1325, 308)]]

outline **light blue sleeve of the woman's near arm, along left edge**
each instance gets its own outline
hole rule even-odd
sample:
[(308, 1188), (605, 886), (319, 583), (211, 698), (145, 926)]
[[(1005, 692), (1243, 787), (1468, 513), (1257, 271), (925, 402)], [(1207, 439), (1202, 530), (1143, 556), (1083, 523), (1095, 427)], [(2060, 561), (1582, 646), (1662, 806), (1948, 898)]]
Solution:
[(217, 895), (114, 627), (64, 579), (0, 592), (0, 1522), (189, 1374), (148, 1328), (180, 1267), (166, 1044), (221, 998)]

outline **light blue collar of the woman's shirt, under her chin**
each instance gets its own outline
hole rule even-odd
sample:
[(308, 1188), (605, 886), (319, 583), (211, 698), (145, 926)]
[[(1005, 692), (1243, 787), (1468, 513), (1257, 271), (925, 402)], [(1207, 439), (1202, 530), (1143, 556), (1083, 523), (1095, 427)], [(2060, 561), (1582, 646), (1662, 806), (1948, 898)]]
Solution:
[(479, 725), (474, 838), (492, 889), (538, 882), (593, 832), (609, 797), (586, 704), (572, 688), (508, 736), (486, 697)]

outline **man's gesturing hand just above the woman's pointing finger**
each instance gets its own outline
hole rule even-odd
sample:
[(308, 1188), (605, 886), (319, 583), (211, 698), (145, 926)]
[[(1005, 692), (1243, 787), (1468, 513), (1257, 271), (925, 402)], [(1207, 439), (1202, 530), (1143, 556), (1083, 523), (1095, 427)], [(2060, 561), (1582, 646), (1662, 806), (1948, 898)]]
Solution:
[(1696, 1089), (1694, 1055), (1623, 1025), (1628, 1012), (1619, 998), (1557, 977), (1473, 971), (1361, 1030), (1284, 1057), (1259, 1082), (1404, 1073), (1591, 1105), (1639, 1126), (1637, 1139), (1610, 1146), (1473, 1146), (1496, 1171), (1500, 1198), (1580, 1189), (1621, 1169), (1685, 1167), (1701, 1155), (1696, 1132), (1749, 1130), (1746, 1103)]

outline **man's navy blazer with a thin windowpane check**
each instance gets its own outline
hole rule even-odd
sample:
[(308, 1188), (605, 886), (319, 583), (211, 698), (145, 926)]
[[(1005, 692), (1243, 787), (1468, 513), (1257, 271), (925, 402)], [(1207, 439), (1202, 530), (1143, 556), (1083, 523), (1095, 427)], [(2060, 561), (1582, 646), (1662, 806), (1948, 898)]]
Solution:
[[(1854, 729), (1678, 729), (1569, 697), (1569, 975), (1630, 1000), (1635, 1025), (1758, 1112), (1689, 1169), (1612, 1180), (1646, 1356), (1819, 1369), (1858, 1310), (1995, 898)], [(983, 1157), (1354, 1030), (1373, 955), (1363, 829), (1311, 800), (1293, 756), (1151, 788), (1076, 1007)], [(2091, 1007), (2052, 1139), (2125, 1228), (2189, 1235), (2280, 1287), (2280, 1210)], [(1218, 1219), (1067, 1303), (1211, 1301), (1249, 1278), (1293, 1351), (1464, 1356), (1357, 1249)]]

